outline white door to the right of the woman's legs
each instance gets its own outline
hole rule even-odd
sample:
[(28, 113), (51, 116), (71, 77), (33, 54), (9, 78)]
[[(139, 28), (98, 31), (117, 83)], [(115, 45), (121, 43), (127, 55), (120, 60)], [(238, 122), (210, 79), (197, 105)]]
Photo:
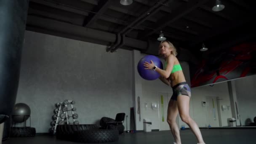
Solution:
[(207, 123), (210, 124), (211, 127), (219, 127), (217, 97), (206, 96), (206, 108)]

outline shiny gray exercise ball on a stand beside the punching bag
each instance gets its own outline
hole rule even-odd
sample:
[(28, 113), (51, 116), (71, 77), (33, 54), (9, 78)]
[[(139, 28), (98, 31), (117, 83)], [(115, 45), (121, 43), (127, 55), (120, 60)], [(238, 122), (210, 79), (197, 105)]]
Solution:
[(22, 123), (26, 121), (30, 116), (30, 108), (27, 104), (18, 103), (14, 105), (12, 118), (15, 123)]

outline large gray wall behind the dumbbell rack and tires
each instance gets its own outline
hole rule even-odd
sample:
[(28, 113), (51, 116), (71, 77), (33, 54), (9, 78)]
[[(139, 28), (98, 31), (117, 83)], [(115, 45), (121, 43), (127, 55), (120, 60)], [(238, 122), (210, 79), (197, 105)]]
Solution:
[(115, 119), (125, 112), (129, 130), (132, 53), (107, 53), (105, 48), (26, 31), (16, 103), (29, 105), (37, 133), (48, 132), (55, 104), (65, 99), (76, 102), (80, 124), (99, 124), (101, 117)]

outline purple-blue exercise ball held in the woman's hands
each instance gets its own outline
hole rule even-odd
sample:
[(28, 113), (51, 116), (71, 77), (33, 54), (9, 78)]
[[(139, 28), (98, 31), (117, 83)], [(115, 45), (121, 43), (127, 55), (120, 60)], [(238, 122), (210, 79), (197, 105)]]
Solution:
[(160, 77), (160, 74), (154, 70), (145, 69), (143, 65), (145, 61), (151, 63), (150, 60), (154, 62), (155, 66), (159, 67), (160, 69), (163, 69), (162, 61), (158, 57), (152, 55), (147, 55), (141, 58), (141, 60), (138, 63), (137, 69), (139, 75), (145, 80), (156, 80)]

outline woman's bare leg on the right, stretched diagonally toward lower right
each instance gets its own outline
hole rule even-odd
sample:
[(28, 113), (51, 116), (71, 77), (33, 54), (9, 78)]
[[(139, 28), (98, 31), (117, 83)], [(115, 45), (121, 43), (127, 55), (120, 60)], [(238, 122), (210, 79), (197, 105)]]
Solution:
[(203, 137), (200, 132), (200, 129), (198, 128), (195, 121), (192, 120), (192, 118), (189, 115), (189, 99), (190, 99), (189, 96), (184, 96), (184, 95), (180, 95), (177, 97), (177, 106), (178, 106), (178, 110), (179, 110), (179, 115), (181, 117), (181, 120), (184, 123), (187, 123), (187, 125), (189, 125), (192, 132), (197, 137), (197, 141), (200, 144), (205, 144), (205, 142), (203, 141)]

